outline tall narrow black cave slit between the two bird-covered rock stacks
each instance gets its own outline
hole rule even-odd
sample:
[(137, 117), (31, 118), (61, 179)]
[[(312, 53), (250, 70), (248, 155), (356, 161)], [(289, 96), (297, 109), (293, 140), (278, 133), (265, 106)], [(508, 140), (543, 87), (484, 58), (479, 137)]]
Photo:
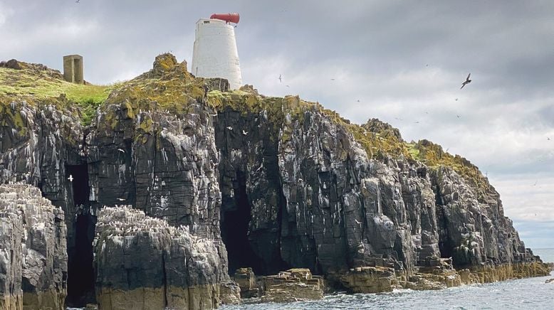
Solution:
[[(95, 302), (93, 238), (96, 216), (90, 212), (87, 164), (66, 166), (66, 180), (73, 192), (73, 227), (68, 233), (68, 306)], [(69, 229), (68, 229), (69, 230)]]

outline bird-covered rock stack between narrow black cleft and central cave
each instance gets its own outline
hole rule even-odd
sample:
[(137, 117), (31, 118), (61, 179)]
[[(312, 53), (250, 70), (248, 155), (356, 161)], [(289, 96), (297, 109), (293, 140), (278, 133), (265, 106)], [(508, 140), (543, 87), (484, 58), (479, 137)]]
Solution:
[(216, 308), (229, 281), (212, 240), (126, 206), (98, 210), (95, 270), (106, 310)]

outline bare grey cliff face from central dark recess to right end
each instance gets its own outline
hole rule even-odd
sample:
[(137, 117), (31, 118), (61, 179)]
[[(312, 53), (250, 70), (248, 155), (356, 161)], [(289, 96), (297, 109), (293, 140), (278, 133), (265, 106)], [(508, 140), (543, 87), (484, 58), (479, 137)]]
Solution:
[[(368, 158), (348, 127), (318, 107), (294, 114), (288, 105), (300, 105), (298, 98), (273, 100), (281, 117), (226, 107), (216, 122), (222, 227), (226, 214), (249, 210), (244, 234), (256, 272), (385, 266), (411, 274), (433, 256), (453, 257), (460, 268), (534, 260), (493, 188), (481, 198), (447, 166), (403, 154)], [(364, 129), (401, 139), (387, 137), (394, 130), (376, 120)], [(243, 264), (252, 260), (245, 256)]]

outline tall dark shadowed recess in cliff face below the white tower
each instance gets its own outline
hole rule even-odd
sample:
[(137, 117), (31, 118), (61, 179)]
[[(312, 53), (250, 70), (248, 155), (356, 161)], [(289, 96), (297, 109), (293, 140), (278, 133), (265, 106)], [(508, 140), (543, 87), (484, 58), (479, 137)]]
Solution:
[(262, 114), (225, 109), (214, 117), (221, 237), (230, 274), (241, 267), (251, 267), (256, 274), (288, 269), (282, 252), (286, 211), (278, 166), (278, 128)]

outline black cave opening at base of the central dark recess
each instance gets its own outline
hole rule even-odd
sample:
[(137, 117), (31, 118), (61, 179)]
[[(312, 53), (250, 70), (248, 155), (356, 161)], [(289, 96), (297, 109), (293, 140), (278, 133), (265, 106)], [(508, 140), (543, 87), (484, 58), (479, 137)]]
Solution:
[(249, 241), (251, 206), (246, 196), (246, 177), (241, 171), (237, 171), (233, 187), (234, 201), (221, 206), (221, 238), (227, 248), (229, 274), (241, 267), (251, 267), (254, 273), (260, 274), (261, 260)]

